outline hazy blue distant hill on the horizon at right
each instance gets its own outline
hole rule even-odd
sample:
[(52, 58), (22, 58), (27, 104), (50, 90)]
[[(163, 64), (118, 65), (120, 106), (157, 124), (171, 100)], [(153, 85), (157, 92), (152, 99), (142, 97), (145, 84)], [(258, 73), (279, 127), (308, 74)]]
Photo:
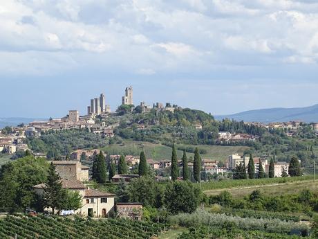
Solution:
[(307, 123), (318, 122), (318, 105), (299, 108), (272, 108), (255, 109), (237, 114), (214, 116), (218, 120), (223, 118), (234, 118), (236, 121), (245, 122), (287, 122), (303, 121)]

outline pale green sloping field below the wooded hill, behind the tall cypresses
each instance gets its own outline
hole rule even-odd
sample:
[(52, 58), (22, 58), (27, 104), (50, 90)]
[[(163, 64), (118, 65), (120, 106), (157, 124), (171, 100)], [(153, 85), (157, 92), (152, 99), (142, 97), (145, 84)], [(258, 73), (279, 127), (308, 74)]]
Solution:
[[(178, 146), (189, 146), (189, 145), (176, 145)], [(195, 147), (195, 145), (191, 145)], [(219, 145), (198, 145), (199, 149), (206, 150), (206, 154), (201, 154), (201, 157), (208, 159), (216, 159), (225, 161), (230, 154), (243, 154), (243, 151), (248, 147), (246, 146), (219, 146)], [(121, 145), (113, 144), (107, 145), (103, 150), (111, 154), (132, 154), (139, 156), (140, 151), (144, 150), (148, 159), (161, 160), (171, 158), (171, 148), (155, 143), (139, 142), (139, 141), (124, 141)], [(181, 150), (177, 150), (178, 158), (183, 156)], [(189, 158), (194, 157), (194, 154), (187, 153)]]

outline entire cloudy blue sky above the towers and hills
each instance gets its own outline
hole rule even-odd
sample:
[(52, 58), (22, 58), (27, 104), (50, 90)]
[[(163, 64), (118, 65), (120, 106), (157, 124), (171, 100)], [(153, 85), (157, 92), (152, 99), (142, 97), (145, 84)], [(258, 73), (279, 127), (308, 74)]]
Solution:
[(115, 110), (130, 85), (212, 114), (315, 105), (317, 60), (315, 0), (0, 1), (0, 118)]

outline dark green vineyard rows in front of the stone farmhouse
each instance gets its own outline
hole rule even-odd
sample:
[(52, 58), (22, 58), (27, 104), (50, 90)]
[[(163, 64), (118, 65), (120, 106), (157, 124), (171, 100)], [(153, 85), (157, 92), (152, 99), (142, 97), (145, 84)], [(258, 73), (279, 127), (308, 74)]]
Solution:
[(133, 220), (13, 217), (0, 220), (0, 238), (41, 239), (146, 239), (165, 230), (165, 224)]

